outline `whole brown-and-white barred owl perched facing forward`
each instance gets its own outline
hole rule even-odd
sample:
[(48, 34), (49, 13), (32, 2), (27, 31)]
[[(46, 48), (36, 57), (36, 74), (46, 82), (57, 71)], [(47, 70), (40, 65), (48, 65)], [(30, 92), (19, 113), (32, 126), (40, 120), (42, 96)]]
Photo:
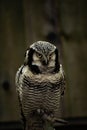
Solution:
[(25, 130), (44, 130), (46, 122), (61, 122), (64, 89), (65, 75), (56, 46), (46, 41), (33, 43), (16, 73)]

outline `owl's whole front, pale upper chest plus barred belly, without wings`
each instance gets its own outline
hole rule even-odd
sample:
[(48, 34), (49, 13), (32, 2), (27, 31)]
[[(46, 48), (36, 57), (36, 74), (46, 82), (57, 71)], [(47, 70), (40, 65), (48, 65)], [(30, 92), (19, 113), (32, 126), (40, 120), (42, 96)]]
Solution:
[(27, 116), (33, 110), (59, 111), (61, 100), (61, 76), (59, 74), (23, 74), (22, 105)]

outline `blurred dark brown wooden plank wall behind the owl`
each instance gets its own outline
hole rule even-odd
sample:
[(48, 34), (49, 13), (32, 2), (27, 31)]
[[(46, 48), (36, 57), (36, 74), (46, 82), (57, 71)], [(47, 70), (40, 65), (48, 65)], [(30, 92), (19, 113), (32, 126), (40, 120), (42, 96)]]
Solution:
[(20, 120), (15, 74), (30, 44), (59, 48), (66, 74), (64, 118), (87, 117), (87, 1), (0, 0), (0, 121)]

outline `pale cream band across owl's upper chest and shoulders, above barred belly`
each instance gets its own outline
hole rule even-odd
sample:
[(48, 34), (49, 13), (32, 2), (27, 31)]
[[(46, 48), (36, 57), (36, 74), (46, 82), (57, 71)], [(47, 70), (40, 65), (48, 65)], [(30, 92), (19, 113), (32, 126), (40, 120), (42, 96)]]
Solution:
[[(19, 94), (21, 95), (21, 89), (22, 87), (22, 79), (24, 79), (24, 77), (27, 77), (30, 81), (34, 81), (34, 82), (38, 82), (39, 84), (42, 82), (47, 82), (47, 83), (52, 83), (52, 84), (56, 84), (56, 85), (62, 85), (62, 88), (65, 87), (65, 76), (64, 76), (64, 70), (62, 68), (62, 65), (60, 64), (60, 70), (58, 73), (53, 73), (52, 75), (50, 73), (46, 73), (46, 75), (44, 76), (44, 74), (38, 74), (35, 75), (33, 74), (30, 70), (28, 65), (24, 66), (22, 65), (19, 70), (17, 71), (16, 74), (16, 89), (17, 91), (19, 91)], [(65, 88), (64, 88), (65, 89)], [(62, 89), (63, 90), (63, 89)]]

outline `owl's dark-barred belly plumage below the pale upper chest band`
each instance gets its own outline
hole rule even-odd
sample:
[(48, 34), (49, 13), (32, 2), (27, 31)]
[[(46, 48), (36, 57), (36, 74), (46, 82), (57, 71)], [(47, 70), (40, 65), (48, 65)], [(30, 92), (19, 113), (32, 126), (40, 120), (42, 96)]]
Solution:
[(33, 80), (25, 77), (23, 86), (24, 112), (29, 113), (36, 109), (44, 109), (46, 111), (59, 110), (61, 90), (57, 84), (47, 82), (47, 80)]

